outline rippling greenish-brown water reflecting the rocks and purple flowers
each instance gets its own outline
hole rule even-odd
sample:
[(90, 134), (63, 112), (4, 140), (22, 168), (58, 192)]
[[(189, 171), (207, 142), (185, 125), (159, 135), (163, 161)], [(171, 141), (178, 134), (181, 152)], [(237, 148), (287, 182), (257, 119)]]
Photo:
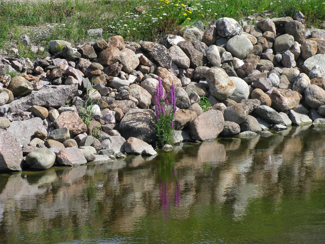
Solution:
[(0, 175), (0, 243), (325, 243), (325, 131)]

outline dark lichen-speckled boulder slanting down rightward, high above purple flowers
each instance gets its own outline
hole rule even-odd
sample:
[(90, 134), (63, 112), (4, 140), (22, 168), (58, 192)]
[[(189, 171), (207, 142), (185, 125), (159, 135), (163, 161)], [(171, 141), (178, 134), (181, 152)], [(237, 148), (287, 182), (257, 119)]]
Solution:
[(142, 42), (141, 47), (159, 64), (159, 66), (170, 69), (172, 67), (172, 58), (168, 49), (159, 43)]

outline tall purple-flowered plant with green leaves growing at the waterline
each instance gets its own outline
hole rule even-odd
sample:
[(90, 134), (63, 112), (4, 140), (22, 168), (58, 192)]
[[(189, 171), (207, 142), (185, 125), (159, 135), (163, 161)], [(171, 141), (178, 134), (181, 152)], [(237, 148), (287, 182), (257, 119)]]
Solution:
[(176, 112), (176, 97), (175, 86), (169, 91), (169, 99), (167, 94), (164, 94), (162, 88), (162, 79), (158, 78), (158, 86), (156, 88), (156, 127), (157, 127), (157, 147), (162, 147), (165, 144), (173, 144), (174, 137), (174, 115)]

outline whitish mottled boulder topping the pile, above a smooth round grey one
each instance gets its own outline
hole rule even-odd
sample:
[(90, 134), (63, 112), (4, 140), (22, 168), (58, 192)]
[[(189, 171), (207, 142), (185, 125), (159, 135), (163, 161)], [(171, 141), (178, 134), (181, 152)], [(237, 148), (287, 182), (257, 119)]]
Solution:
[(217, 34), (222, 37), (231, 37), (242, 33), (240, 24), (231, 18), (220, 18), (216, 21), (215, 26)]

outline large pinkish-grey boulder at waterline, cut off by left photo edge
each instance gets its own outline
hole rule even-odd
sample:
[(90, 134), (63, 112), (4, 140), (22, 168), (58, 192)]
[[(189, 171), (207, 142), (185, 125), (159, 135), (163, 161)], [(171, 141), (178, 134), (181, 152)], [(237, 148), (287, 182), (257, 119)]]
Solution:
[(0, 171), (20, 171), (22, 159), (21, 146), (15, 137), (0, 129)]

